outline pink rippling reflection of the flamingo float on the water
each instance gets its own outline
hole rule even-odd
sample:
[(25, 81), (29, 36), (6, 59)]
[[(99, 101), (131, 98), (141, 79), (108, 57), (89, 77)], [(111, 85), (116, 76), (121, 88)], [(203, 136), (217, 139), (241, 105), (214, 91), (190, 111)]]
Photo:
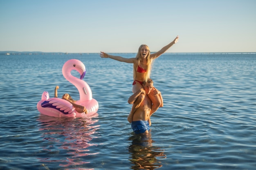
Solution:
[[(42, 138), (45, 145), (41, 148), (45, 153), (38, 158), (43, 162), (60, 162), (60, 166), (77, 166), (85, 163), (82, 157), (96, 155), (88, 149), (96, 144), (90, 143), (95, 138), (92, 136), (99, 128), (92, 126), (98, 120), (91, 118), (58, 118), (40, 115), (41, 122), (39, 130), (43, 131)], [(51, 157), (49, 157), (51, 156)], [(63, 159), (64, 158), (64, 159)], [(83, 159), (86, 160), (86, 159)]]

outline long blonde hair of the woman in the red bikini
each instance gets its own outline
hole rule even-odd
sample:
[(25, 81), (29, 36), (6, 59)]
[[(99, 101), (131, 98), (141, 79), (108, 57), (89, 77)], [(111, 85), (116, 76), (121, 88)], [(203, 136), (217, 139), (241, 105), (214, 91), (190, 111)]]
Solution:
[[(145, 44), (142, 44), (141, 46), (139, 46), (139, 49), (138, 49), (138, 53), (136, 55), (136, 59), (138, 60), (138, 66), (140, 65), (139, 62), (141, 60), (141, 55), (140, 55), (140, 51), (141, 51), (141, 48), (145, 46), (146, 49), (148, 50), (148, 56), (146, 58), (146, 62), (147, 62), (147, 65), (146, 65), (146, 75), (144, 77), (144, 81), (148, 81), (149, 77), (150, 77), (150, 72), (151, 72), (151, 65), (152, 65), (152, 59), (150, 58), (150, 49), (147, 45)], [(136, 78), (136, 68), (134, 68), (133, 70), (133, 79)]]

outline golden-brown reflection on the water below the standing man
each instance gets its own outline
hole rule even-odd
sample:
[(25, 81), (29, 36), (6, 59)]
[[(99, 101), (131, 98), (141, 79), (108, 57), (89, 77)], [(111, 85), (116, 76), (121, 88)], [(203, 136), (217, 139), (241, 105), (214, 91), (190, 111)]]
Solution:
[(153, 146), (150, 132), (146, 135), (133, 135), (129, 140), (132, 141), (129, 146), (129, 160), (134, 164), (131, 169), (154, 170), (162, 167), (162, 162), (157, 157), (162, 159), (166, 158), (166, 155), (164, 150)]

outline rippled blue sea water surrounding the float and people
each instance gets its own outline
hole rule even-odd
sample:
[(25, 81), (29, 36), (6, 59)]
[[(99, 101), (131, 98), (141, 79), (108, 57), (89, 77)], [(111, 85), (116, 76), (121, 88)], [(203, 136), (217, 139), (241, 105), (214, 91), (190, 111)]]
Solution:
[[(85, 64), (98, 116), (40, 115), (41, 94), (53, 97), (56, 85), (59, 94), (78, 99), (61, 72), (73, 58)], [(148, 136), (134, 135), (126, 119), (132, 64), (99, 54), (0, 55), (0, 60), (1, 170), (256, 167), (255, 54), (164, 54), (155, 60), (151, 78), (164, 107), (151, 117)]]

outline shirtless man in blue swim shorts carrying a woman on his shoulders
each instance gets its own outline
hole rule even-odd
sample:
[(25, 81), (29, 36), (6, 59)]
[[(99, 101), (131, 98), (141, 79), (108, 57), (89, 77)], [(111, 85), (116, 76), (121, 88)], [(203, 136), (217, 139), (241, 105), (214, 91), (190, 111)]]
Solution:
[(148, 133), (149, 126), (151, 125), (150, 116), (155, 113), (156, 110), (151, 110), (152, 108), (152, 102), (149, 98), (149, 95), (159, 95), (161, 99), (161, 106), (163, 107), (163, 98), (161, 93), (154, 88), (153, 86), (153, 80), (148, 79), (147, 82), (143, 82), (142, 84), (143, 88), (139, 89), (139, 91), (135, 92), (133, 95), (131, 95), (128, 99), (129, 104), (136, 103), (137, 97), (142, 94), (144, 95), (144, 100), (141, 102), (141, 104), (134, 108), (132, 107), (132, 110), (128, 116), (128, 121), (132, 125), (132, 130), (136, 134), (140, 133)]

